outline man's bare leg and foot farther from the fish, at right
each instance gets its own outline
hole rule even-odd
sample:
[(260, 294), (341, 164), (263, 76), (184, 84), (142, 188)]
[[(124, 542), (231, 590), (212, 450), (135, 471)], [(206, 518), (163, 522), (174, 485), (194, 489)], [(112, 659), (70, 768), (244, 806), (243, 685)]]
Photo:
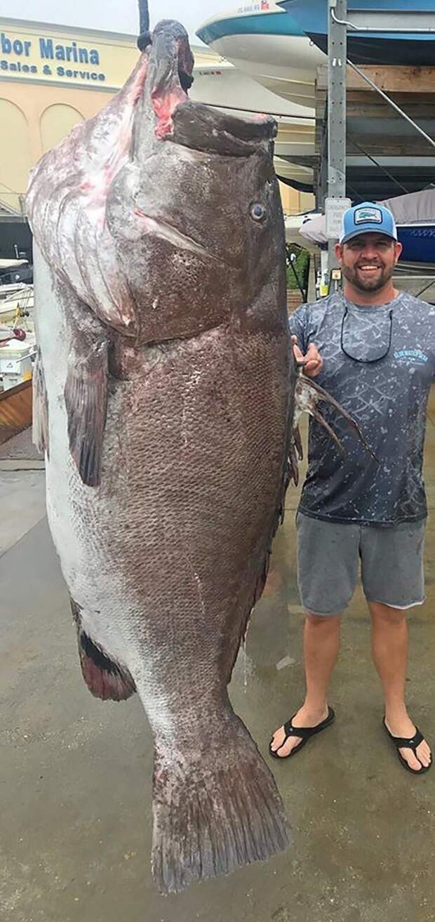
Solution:
[[(410, 739), (416, 732), (405, 701), (408, 662), (408, 630), (406, 614), (379, 602), (369, 602), (371, 615), (371, 648), (373, 662), (382, 681), (385, 698), (385, 723), (394, 737)], [(406, 762), (418, 771), (420, 764), (411, 750), (403, 749)], [(423, 765), (430, 763), (426, 740), (420, 743), (417, 756)]]

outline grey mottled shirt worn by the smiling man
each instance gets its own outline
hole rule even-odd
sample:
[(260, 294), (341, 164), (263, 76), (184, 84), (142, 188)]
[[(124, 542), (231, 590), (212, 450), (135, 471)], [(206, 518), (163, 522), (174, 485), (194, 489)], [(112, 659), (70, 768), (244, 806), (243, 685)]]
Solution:
[(435, 374), (435, 307), (406, 293), (381, 307), (362, 307), (338, 293), (303, 304), (290, 327), (304, 353), (315, 343), (323, 358), (316, 381), (359, 423), (380, 462), (334, 409), (321, 405), (346, 454), (311, 422), (300, 512), (378, 526), (424, 519), (422, 467)]

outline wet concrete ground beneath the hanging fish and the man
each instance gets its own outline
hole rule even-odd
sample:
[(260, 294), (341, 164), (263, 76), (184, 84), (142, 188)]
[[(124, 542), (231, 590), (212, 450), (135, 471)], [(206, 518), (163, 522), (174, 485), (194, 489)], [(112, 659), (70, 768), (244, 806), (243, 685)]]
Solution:
[[(432, 398), (432, 516), (434, 422)], [(435, 771), (413, 778), (384, 739), (360, 590), (344, 624), (331, 695), (335, 726), (294, 762), (271, 765), (293, 825), (292, 849), (178, 897), (155, 892), (147, 719), (137, 697), (99, 703), (81, 679), (65, 585), (43, 517), (42, 477), (4, 467), (0, 473), (2, 922), (433, 922)], [(3, 533), (18, 501), (24, 514), (11, 547)], [(303, 691), (296, 504), (290, 490), (247, 662), (240, 657), (231, 686), (236, 710), (265, 753), (272, 729), (296, 709)], [(410, 616), (408, 697), (414, 719), (435, 741), (435, 516), (427, 577), (428, 602)]]

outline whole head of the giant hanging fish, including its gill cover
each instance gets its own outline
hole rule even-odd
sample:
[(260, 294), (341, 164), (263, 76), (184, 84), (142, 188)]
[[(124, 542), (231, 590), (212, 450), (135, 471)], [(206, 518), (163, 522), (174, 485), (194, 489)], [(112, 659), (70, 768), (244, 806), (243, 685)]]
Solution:
[[(123, 89), (31, 173), (29, 221), (62, 287), (136, 343), (285, 306), (272, 118), (189, 98), (187, 32), (163, 20)], [(267, 307), (267, 305), (269, 305)]]

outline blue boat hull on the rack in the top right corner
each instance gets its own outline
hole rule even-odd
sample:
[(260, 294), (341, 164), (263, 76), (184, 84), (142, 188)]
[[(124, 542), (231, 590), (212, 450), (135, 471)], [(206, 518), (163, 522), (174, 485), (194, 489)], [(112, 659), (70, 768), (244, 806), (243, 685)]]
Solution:
[[(327, 52), (328, 20), (327, 0), (277, 0), (278, 6), (299, 23), (300, 29), (320, 48)], [(435, 0), (348, 0), (347, 16), (352, 10), (384, 10), (385, 12), (435, 12)], [(424, 28), (424, 19), (422, 21)], [(435, 33), (347, 33), (348, 56), (357, 65), (408, 65), (431, 67), (435, 65)]]

